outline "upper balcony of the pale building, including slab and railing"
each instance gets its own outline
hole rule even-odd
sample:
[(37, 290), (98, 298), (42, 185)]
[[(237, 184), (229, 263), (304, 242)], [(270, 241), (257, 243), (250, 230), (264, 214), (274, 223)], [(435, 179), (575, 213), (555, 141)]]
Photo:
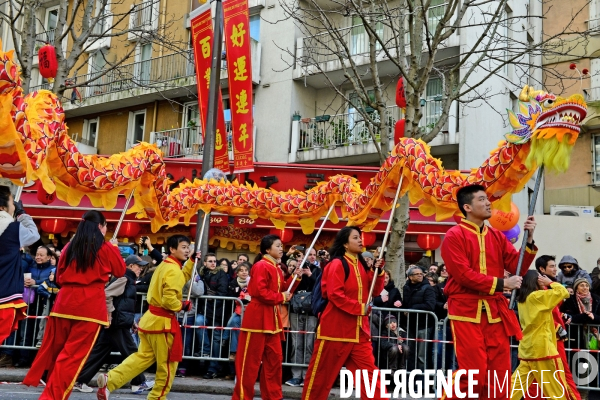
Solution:
[[(439, 20), (444, 15), (446, 4), (430, 7), (428, 10), (428, 27), (435, 30)], [(395, 32), (384, 23), (377, 23), (375, 31), (384, 43), (390, 43), (389, 53), (396, 57)], [(351, 57), (357, 66), (368, 65), (370, 62), (369, 54), (369, 36), (363, 25), (354, 25), (347, 28), (341, 28), (334, 36), (329, 32), (318, 33), (314, 36), (308, 36), (297, 39), (296, 44), (296, 68), (294, 69), (294, 79), (306, 80), (306, 83), (314, 88), (320, 89), (328, 86), (328, 80), (319, 75), (326, 73), (333, 82), (338, 82), (343, 78), (343, 68), (338, 57), (339, 38), (344, 42), (350, 54), (344, 55), (344, 59)], [(339, 36), (339, 38), (338, 38)], [(408, 45), (409, 38), (405, 38), (406, 54), (410, 54)], [(443, 59), (444, 63), (453, 64), (458, 61), (460, 38), (458, 33), (448, 38), (438, 50), (437, 58)], [(381, 51), (380, 45), (377, 45), (376, 58), (381, 76), (396, 75), (397, 67), (389, 61), (387, 55)], [(426, 51), (426, 44), (423, 43), (423, 50)], [(338, 79), (339, 78), (339, 79)]]

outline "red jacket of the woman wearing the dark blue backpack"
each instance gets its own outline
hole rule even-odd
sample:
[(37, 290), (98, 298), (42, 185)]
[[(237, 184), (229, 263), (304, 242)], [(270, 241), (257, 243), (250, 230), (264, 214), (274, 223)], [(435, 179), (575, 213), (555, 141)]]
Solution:
[[(331, 260), (323, 270), (321, 293), (329, 302), (321, 314), (317, 338), (358, 343), (361, 329), (371, 336), (369, 317), (364, 310), (375, 272), (367, 272), (358, 259), (348, 253), (344, 257), (350, 267), (348, 279), (339, 259)], [(383, 290), (384, 274), (382, 270), (377, 277), (373, 293)]]

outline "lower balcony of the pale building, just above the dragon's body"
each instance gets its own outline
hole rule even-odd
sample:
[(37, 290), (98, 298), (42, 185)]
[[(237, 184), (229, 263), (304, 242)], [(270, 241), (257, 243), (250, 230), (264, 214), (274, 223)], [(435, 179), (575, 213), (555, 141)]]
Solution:
[[(431, 129), (431, 124), (439, 118), (441, 100), (427, 101), (423, 109), (420, 126), (425, 130)], [(369, 110), (367, 110), (369, 112)], [(377, 113), (374, 119), (378, 120)], [(437, 114), (436, 114), (437, 113)], [(378, 161), (377, 148), (373, 143), (369, 128), (375, 132), (375, 141), (381, 143), (388, 140), (393, 147), (394, 126), (403, 118), (402, 110), (390, 106), (386, 110), (387, 132), (379, 132), (375, 125), (369, 125), (360, 113), (354, 111), (345, 114), (323, 115), (315, 118), (304, 118), (292, 122), (291, 151), (288, 157), (290, 163), (302, 162), (343, 162), (348, 163), (347, 157), (353, 157), (354, 164), (366, 164)], [(444, 127), (442, 132), (430, 143), (438, 147), (437, 153), (448, 154), (458, 151), (457, 135), (454, 129), (454, 118)], [(434, 151), (435, 153), (435, 151)]]

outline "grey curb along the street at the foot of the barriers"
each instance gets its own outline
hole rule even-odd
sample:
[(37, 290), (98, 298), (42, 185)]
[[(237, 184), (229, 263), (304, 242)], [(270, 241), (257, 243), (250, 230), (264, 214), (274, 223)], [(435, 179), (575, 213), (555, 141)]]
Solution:
[[(27, 374), (27, 369), (20, 368), (0, 368), (0, 383), (22, 382)], [(148, 379), (154, 379), (154, 374), (146, 374)], [(91, 387), (96, 386), (96, 379), (90, 382)], [(231, 396), (233, 394), (234, 381), (225, 381), (222, 379), (201, 379), (197, 377), (175, 378), (171, 391), (183, 393), (207, 393)], [(129, 388), (130, 386), (124, 386)], [(255, 398), (261, 398), (259, 384), (255, 385)], [(302, 387), (291, 387), (282, 385), (283, 397), (286, 399), (300, 399), (302, 397)], [(121, 392), (123, 392), (121, 390)], [(329, 399), (337, 400), (340, 398), (339, 389), (333, 389)]]

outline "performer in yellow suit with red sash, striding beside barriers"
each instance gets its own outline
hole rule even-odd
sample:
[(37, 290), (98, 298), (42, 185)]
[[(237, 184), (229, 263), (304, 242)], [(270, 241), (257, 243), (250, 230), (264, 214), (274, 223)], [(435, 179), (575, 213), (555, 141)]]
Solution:
[(171, 390), (177, 365), (183, 356), (179, 311), (189, 311), (189, 301), (181, 301), (181, 290), (189, 281), (194, 262), (188, 260), (190, 240), (174, 235), (167, 241), (170, 255), (156, 268), (148, 288), (148, 311), (139, 324), (140, 346), (108, 374), (98, 376), (98, 400), (108, 400), (120, 388), (156, 362), (156, 379), (148, 399), (164, 400)]

